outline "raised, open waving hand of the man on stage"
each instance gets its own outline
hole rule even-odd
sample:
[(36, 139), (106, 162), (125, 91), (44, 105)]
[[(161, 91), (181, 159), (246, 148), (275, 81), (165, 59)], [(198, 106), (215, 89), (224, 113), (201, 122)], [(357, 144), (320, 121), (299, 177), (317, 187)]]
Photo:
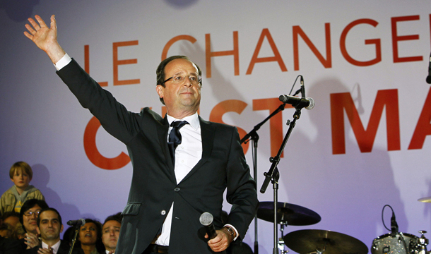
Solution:
[(51, 16), (51, 28), (48, 28), (45, 21), (40, 16), (35, 16), (37, 23), (33, 18), (28, 18), (31, 25), (25, 24), (28, 32), (25, 31), (24, 35), (28, 39), (35, 42), (36, 46), (46, 52), (51, 59), (52, 63), (57, 63), (65, 54), (64, 50), (60, 47), (57, 41), (57, 23), (55, 16)]

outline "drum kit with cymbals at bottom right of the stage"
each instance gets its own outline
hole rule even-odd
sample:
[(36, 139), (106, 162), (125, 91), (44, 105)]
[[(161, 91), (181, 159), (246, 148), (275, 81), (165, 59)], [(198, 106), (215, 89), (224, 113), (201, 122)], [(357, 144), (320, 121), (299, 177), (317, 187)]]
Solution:
[[(431, 202), (430, 198), (420, 198), (420, 202)], [(267, 222), (273, 222), (273, 202), (261, 202), (257, 217)], [(281, 226), (281, 237), (278, 238), (278, 249), (288, 253), (284, 247), (300, 254), (367, 254), (365, 243), (335, 231), (305, 229), (283, 235), (287, 225), (307, 226), (320, 222), (317, 212), (286, 202), (278, 202), (276, 209), (277, 224)], [(428, 239), (426, 231), (419, 231), (420, 237), (401, 232), (392, 232), (375, 238), (370, 251), (372, 254), (430, 254), (427, 251)]]

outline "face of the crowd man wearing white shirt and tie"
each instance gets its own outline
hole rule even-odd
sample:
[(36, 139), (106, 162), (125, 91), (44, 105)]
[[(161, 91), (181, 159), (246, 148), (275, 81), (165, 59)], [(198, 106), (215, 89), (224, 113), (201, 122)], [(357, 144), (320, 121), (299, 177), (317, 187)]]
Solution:
[(42, 237), (42, 241), (60, 240), (60, 233), (63, 231), (63, 225), (60, 224), (57, 212), (45, 211), (39, 214), (40, 224), (37, 233)]

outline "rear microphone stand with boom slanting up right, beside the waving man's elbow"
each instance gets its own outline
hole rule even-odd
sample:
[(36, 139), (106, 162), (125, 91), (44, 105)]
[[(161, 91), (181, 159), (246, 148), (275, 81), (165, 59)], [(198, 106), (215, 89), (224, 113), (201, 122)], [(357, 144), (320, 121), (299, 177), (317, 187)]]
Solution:
[[(254, 181), (257, 182), (257, 143), (259, 141), (259, 135), (257, 134), (257, 131), (261, 126), (266, 123), (271, 117), (278, 114), (278, 112), (283, 111), (285, 108), (285, 103), (281, 104), (276, 110), (274, 110), (264, 121), (261, 121), (256, 126), (254, 126), (253, 130), (244, 135), (244, 138), (241, 139), (242, 143), (247, 143), (249, 140), (252, 140), (253, 145), (253, 178)], [(259, 254), (259, 243), (257, 241), (257, 215), (254, 215), (254, 254)]]

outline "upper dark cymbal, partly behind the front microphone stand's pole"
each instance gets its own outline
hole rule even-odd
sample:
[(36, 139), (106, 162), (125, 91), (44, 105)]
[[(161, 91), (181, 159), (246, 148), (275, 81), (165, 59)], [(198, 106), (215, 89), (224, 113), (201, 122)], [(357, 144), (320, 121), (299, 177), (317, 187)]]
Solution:
[[(260, 202), (257, 209), (257, 217), (267, 222), (274, 221), (273, 202)], [(277, 203), (277, 223), (292, 226), (312, 225), (320, 222), (321, 217), (317, 212), (309, 210), (300, 205), (293, 205), (287, 202)]]

